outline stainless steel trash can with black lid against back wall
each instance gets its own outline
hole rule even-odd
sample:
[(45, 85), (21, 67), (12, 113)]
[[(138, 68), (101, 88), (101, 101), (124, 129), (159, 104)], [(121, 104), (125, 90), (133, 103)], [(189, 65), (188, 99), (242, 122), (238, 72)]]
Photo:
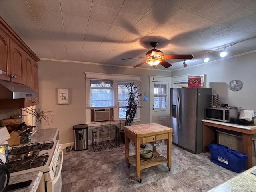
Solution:
[(88, 149), (88, 125), (79, 124), (73, 126), (74, 130), (74, 150)]

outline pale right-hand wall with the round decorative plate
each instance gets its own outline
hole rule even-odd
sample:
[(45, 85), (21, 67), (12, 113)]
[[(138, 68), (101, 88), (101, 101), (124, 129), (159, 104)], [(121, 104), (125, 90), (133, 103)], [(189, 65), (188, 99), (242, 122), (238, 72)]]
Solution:
[[(189, 61), (187, 62), (189, 65)], [(220, 101), (229, 106), (256, 111), (256, 52), (251, 52), (233, 58), (172, 71), (172, 77), (185, 74), (207, 75), (207, 87), (213, 88), (213, 93), (220, 96)], [(238, 79), (243, 82), (239, 91), (231, 91), (228, 84)]]

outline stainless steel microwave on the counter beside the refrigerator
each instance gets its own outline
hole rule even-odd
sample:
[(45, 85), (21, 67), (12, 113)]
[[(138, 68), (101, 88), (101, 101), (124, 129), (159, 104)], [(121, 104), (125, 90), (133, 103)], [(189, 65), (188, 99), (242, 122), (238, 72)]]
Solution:
[(206, 107), (205, 118), (214, 121), (232, 123), (238, 118), (238, 108), (216, 108)]

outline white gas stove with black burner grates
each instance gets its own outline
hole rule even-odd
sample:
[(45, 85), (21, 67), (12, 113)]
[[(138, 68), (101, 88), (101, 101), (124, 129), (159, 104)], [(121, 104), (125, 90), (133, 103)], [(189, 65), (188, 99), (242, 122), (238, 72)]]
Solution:
[(63, 151), (59, 140), (13, 146), (8, 152), (6, 166), (10, 177), (41, 171), (44, 173), (41, 191), (61, 191)]

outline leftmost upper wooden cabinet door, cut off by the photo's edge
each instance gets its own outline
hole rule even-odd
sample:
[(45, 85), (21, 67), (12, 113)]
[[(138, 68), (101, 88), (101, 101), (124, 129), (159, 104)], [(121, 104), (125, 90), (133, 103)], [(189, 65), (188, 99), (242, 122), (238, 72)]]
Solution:
[(9, 71), (9, 38), (0, 30), (0, 79), (10, 81)]

